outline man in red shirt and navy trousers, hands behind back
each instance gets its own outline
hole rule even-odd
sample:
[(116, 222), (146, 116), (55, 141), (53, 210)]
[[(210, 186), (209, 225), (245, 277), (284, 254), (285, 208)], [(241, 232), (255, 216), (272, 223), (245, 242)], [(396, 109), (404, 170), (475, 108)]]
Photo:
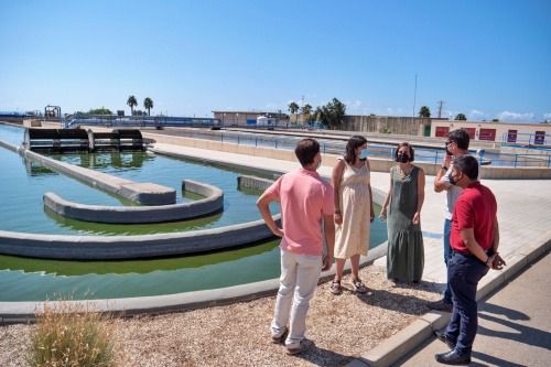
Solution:
[(447, 279), (453, 294), (453, 313), (444, 332), (436, 337), (452, 350), (437, 354), (447, 365), (471, 363), (473, 342), (478, 326), (476, 288), (490, 268), (500, 270), (505, 262), (497, 255), (499, 227), (497, 202), (491, 191), (478, 181), (478, 162), (474, 156), (455, 158), (451, 183), (463, 188), (452, 216), (452, 258)]

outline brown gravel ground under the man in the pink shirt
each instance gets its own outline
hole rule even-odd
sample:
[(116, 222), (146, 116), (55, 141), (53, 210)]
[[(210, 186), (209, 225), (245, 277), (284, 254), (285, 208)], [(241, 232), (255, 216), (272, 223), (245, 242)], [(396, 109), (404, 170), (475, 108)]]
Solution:
[[(307, 337), (315, 347), (288, 356), (270, 338), (274, 296), (158, 316), (117, 319), (119, 365), (147, 366), (344, 366), (354, 357), (429, 311), (440, 298), (436, 284), (393, 284), (386, 270), (369, 266), (360, 277), (370, 289), (357, 295), (318, 287), (311, 301)], [(343, 282), (347, 287), (346, 279)], [(32, 325), (0, 327), (0, 366), (26, 366)]]

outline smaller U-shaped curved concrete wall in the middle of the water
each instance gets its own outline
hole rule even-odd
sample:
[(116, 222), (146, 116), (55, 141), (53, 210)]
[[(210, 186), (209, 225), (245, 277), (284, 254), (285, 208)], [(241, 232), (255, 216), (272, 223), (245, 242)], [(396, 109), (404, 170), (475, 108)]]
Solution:
[(54, 193), (44, 194), (44, 206), (61, 216), (96, 223), (140, 224), (184, 220), (222, 212), (220, 188), (193, 180), (182, 181), (182, 188), (205, 198), (182, 204), (155, 206), (104, 206), (66, 201)]

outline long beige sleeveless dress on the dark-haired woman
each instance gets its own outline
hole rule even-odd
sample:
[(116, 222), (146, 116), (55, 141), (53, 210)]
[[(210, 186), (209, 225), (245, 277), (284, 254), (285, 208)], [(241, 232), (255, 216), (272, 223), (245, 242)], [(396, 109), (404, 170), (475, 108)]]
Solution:
[(337, 259), (348, 259), (354, 255), (367, 256), (371, 220), (369, 197), (370, 172), (366, 164), (356, 169), (345, 163), (341, 182), (341, 212), (343, 224), (335, 226), (335, 251)]

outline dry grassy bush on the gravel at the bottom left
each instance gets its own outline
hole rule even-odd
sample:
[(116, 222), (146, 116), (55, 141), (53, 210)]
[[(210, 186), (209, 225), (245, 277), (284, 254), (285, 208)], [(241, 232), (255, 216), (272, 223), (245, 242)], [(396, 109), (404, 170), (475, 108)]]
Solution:
[(115, 350), (108, 316), (69, 302), (45, 303), (36, 314), (28, 360), (33, 367), (110, 367)]

